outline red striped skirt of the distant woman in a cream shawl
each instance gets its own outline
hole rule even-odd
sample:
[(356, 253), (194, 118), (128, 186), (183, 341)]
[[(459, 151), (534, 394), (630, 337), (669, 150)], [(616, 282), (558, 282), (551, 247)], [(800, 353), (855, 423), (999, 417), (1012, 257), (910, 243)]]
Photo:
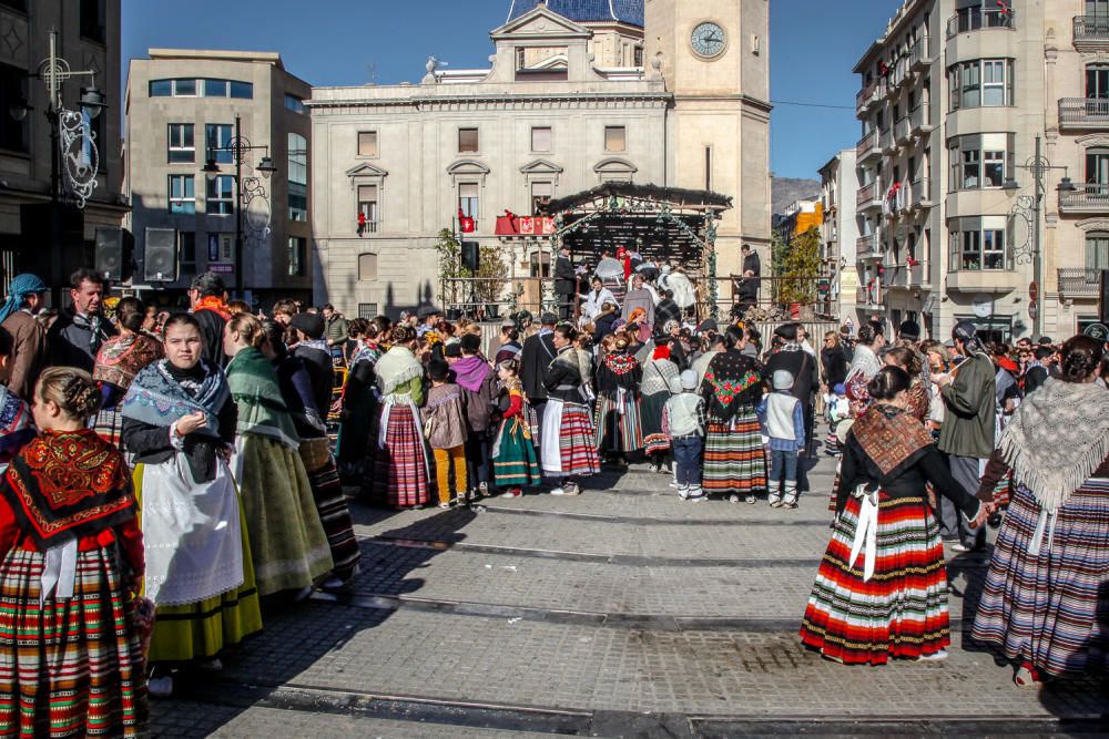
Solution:
[(389, 410), (385, 448), (374, 455), (374, 497), (388, 505), (414, 507), (428, 501), (427, 450), (410, 406)]

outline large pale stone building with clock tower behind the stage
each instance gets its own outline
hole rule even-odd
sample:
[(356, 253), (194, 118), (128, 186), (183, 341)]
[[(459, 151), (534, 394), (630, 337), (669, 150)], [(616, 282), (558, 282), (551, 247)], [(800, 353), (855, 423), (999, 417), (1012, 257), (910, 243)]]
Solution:
[[(741, 240), (770, 244), (766, 7), (513, 0), (490, 69), (433, 59), (419, 84), (314, 89), (315, 300), (348, 316), (437, 302), (436, 244), (459, 213), (467, 240), (498, 245), (497, 216), (607, 181), (732, 196), (723, 286)], [(705, 22), (725, 39), (699, 53)], [(509, 258), (539, 276), (549, 242), (517, 240)]]

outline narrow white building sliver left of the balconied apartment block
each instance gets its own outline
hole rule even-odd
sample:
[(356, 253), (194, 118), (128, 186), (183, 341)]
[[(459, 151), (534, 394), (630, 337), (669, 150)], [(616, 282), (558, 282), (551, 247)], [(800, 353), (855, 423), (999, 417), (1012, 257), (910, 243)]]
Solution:
[(855, 150), (845, 148), (820, 170), (821, 258), (830, 277), (830, 299), (838, 301), (840, 322), (848, 319), (858, 326), (862, 316), (855, 308), (858, 273), (855, 268), (855, 249), (858, 242), (858, 223), (855, 217)]

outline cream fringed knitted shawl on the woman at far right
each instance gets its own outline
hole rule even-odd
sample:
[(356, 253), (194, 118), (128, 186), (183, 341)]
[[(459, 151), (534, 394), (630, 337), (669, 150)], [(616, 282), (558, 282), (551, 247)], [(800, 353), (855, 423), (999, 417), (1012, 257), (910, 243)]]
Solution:
[(1109, 456), (1109, 391), (1048, 379), (1017, 408), (998, 449), (1017, 482), (1058, 510)]

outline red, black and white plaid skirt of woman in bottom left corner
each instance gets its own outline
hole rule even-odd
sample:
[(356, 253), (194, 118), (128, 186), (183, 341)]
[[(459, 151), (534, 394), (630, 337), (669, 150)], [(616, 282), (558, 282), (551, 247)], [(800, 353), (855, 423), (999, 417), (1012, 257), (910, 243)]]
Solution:
[(80, 552), (73, 597), (39, 605), (44, 557), (0, 564), (0, 736), (139, 737), (146, 677), (115, 556)]

